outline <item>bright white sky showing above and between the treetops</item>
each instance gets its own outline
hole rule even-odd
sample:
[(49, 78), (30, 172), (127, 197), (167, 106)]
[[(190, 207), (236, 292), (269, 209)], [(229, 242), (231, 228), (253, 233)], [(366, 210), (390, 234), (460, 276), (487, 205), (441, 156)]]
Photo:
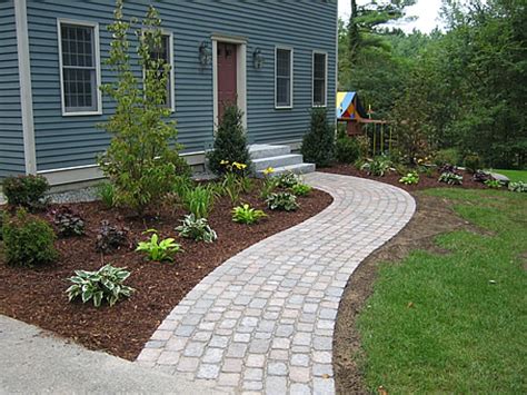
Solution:
[[(357, 0), (357, 4), (366, 4), (369, 0)], [(404, 31), (411, 32), (417, 29), (424, 33), (430, 32), (436, 26), (440, 26), (439, 21), (439, 9), (441, 7), (441, 0), (417, 0), (415, 6), (407, 8), (408, 17), (417, 17), (416, 20), (410, 22), (402, 22), (398, 24)], [(350, 13), (350, 1), (338, 0), (339, 17), (347, 20)]]

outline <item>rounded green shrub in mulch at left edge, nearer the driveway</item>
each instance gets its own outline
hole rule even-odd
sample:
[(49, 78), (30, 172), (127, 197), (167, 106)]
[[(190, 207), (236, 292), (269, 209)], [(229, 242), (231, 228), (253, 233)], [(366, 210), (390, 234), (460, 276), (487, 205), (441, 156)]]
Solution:
[(6, 261), (12, 266), (40, 266), (58, 258), (51, 226), (19, 209), (13, 217), (4, 216), (2, 226)]

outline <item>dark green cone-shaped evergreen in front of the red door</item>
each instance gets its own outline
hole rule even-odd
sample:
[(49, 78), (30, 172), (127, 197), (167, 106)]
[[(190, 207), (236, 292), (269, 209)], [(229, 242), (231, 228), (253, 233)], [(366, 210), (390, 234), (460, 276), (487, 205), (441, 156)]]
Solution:
[(239, 162), (250, 168), (247, 135), (242, 125), (243, 113), (237, 106), (227, 106), (218, 126), (213, 150), (208, 152), (209, 168), (217, 175), (227, 171), (221, 162)]

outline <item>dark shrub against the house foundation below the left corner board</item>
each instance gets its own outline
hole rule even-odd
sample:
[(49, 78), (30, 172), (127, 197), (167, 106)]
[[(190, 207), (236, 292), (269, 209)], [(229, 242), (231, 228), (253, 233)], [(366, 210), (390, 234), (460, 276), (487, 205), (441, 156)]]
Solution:
[(3, 195), (11, 206), (21, 206), (29, 210), (42, 209), (48, 201), (44, 194), (49, 189), (48, 180), (42, 176), (8, 177), (2, 182)]

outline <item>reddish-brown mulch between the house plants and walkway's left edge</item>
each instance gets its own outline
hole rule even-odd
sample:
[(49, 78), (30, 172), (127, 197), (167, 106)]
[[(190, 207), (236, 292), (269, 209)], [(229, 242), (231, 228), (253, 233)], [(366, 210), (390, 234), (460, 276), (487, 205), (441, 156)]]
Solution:
[[(139, 219), (116, 209), (106, 210), (98, 201), (71, 204), (86, 220), (86, 236), (58, 239), (60, 259), (52, 266), (26, 269), (1, 264), (0, 314), (52, 330), (90, 349), (135, 359), (170, 310), (210, 271), (250, 245), (316, 215), (332, 198), (314, 189), (310, 196), (298, 198), (300, 209), (295, 213), (268, 210), (258, 198), (257, 188), (242, 201), (264, 209), (269, 217), (258, 225), (236, 224), (231, 220), (229, 198), (221, 198), (209, 217), (218, 234), (213, 244), (177, 236), (173, 228), (186, 214), (181, 208), (161, 207), (159, 213)], [(176, 256), (175, 264), (146, 261), (133, 248), (102, 256), (95, 250), (101, 220), (128, 227), (130, 246), (146, 239), (142, 231), (155, 228), (161, 237), (176, 237), (185, 253)], [(66, 279), (73, 270), (96, 270), (107, 263), (131, 271), (126, 284), (136, 288), (132, 297), (111, 308), (95, 308), (91, 302), (68, 303)]]

